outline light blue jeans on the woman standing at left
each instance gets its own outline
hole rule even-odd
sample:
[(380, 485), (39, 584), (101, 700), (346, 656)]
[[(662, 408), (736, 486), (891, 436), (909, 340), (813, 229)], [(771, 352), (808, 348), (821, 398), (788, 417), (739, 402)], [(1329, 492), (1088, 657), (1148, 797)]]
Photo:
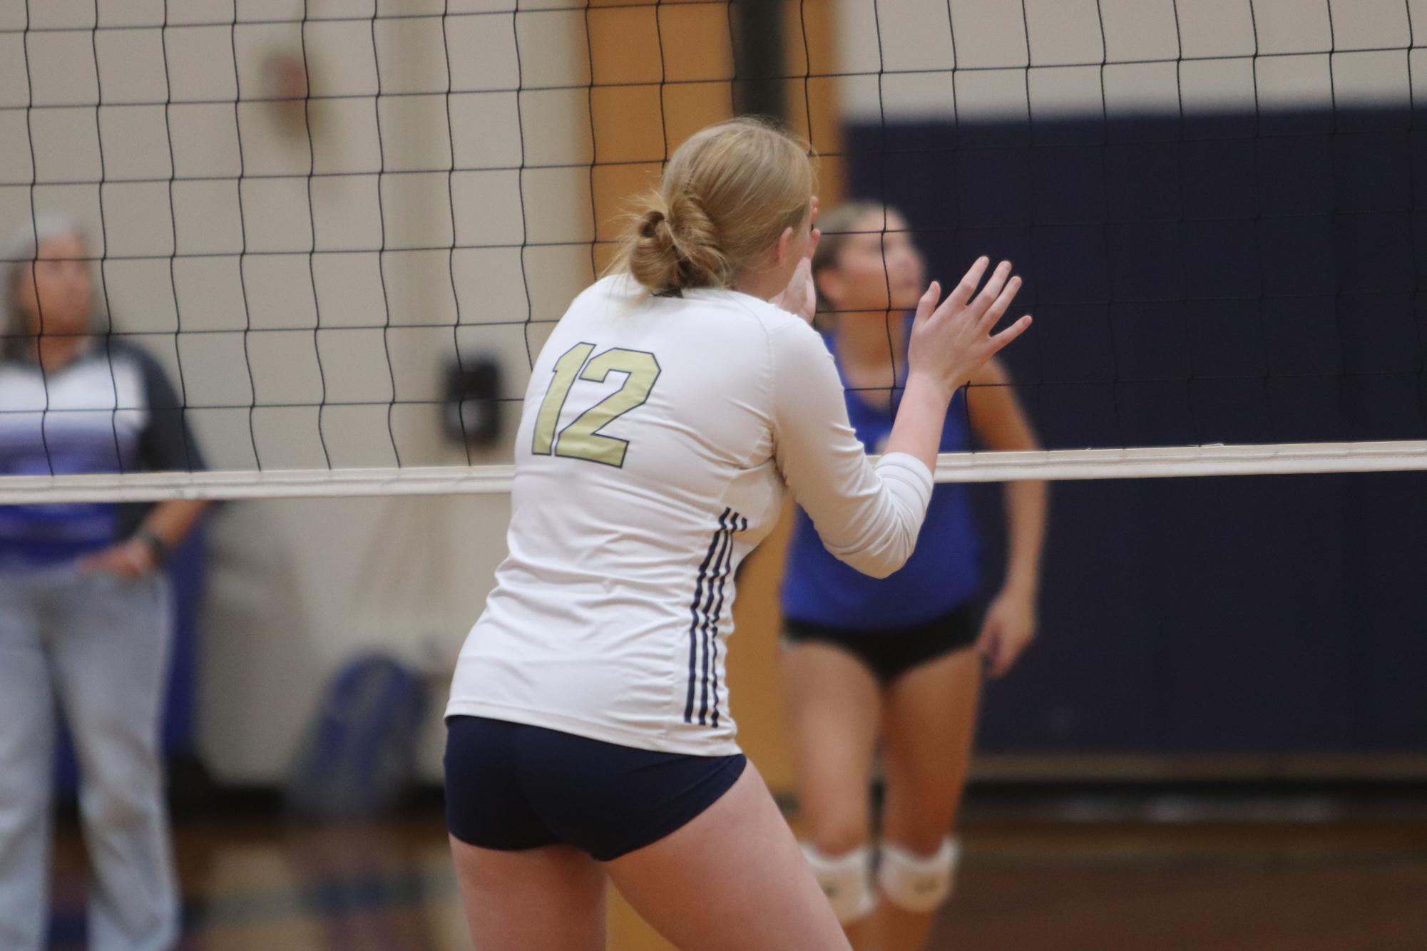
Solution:
[(49, 920), (56, 706), (80, 767), (94, 951), (178, 938), (158, 714), (171, 637), (161, 572), (0, 572), (0, 951), (37, 951)]

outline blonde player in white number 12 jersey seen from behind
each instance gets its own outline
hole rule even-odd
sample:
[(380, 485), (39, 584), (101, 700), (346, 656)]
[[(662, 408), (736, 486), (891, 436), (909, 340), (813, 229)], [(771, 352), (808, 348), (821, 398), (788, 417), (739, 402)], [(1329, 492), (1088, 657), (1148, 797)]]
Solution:
[[(872, 575), (912, 553), (958, 384), (1029, 327), (980, 259), (912, 329), (872, 466), (812, 314), (806, 150), (751, 120), (668, 163), (612, 272), (535, 361), (509, 556), (448, 714), (447, 810), (482, 951), (604, 947), (604, 883), (679, 948), (846, 947), (723, 677), (733, 573), (783, 488)], [(795, 314), (801, 312), (802, 318)]]

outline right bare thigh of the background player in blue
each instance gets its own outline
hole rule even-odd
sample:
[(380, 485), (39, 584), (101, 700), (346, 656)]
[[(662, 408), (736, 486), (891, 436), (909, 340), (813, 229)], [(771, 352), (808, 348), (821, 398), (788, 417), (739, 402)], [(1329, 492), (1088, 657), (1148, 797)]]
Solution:
[(930, 853), (956, 821), (980, 703), (980, 657), (958, 650), (919, 664), (883, 694), (882, 831)]

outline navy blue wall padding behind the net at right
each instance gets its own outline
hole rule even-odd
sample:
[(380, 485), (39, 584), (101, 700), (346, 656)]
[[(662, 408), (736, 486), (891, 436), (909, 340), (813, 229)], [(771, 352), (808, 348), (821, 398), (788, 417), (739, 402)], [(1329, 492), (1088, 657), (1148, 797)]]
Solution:
[[(1427, 118), (848, 130), (930, 277), (1009, 257), (1049, 448), (1427, 438)], [(972, 396), (975, 399), (975, 394)], [(999, 565), (1000, 499), (975, 490)], [(1062, 482), (1042, 637), (986, 750), (1427, 744), (1427, 473)]]

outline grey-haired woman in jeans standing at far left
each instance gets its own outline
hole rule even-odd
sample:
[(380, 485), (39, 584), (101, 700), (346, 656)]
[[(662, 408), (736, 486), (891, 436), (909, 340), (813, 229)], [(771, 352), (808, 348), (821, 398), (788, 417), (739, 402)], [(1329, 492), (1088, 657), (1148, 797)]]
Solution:
[[(193, 471), (151, 356), (96, 332), (78, 227), (41, 217), (0, 261), (0, 475)], [(0, 948), (43, 947), (54, 711), (80, 766), (96, 951), (178, 941), (160, 710), (173, 607), (161, 562), (205, 503), (0, 506)]]

